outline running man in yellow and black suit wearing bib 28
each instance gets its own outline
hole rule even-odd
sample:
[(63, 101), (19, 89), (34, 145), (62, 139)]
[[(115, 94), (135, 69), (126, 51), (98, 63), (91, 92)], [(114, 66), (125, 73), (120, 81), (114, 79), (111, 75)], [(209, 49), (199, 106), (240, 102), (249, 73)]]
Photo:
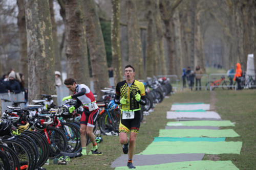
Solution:
[[(129, 168), (133, 166), (136, 136), (140, 128), (140, 104), (146, 105), (145, 87), (142, 82), (134, 80), (135, 69), (132, 65), (124, 68), (125, 80), (117, 83), (115, 103), (121, 104), (121, 119), (119, 125), (119, 141), (123, 144), (124, 154), (128, 153)], [(130, 139), (127, 133), (130, 132)]]

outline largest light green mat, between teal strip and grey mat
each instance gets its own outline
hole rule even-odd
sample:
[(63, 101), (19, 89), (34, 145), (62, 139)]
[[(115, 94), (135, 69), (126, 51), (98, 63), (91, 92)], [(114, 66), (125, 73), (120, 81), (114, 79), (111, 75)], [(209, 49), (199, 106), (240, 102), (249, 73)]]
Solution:
[(242, 142), (237, 141), (198, 141), (198, 142), (152, 142), (139, 155), (155, 155), (155, 154), (240, 154)]

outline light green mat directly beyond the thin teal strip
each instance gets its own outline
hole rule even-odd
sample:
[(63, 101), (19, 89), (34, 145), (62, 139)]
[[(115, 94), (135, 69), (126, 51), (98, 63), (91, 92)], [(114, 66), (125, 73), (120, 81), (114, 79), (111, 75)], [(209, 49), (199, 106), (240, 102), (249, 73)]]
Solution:
[(233, 129), (160, 129), (159, 137), (239, 137)]

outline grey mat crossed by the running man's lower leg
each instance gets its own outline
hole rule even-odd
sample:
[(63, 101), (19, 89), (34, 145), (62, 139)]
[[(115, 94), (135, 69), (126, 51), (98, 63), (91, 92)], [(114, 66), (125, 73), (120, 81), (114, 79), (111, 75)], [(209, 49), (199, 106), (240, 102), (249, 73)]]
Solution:
[[(136, 166), (156, 165), (162, 163), (202, 160), (204, 154), (162, 154), (162, 155), (134, 155), (133, 164)], [(111, 167), (127, 166), (128, 155), (121, 155)]]

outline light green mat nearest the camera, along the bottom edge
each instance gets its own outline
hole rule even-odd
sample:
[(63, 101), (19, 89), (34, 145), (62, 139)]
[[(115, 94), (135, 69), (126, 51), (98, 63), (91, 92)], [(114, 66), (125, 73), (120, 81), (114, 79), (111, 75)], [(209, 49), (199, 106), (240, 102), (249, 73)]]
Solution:
[[(136, 165), (135, 165), (136, 166)], [(116, 167), (116, 170), (128, 169), (127, 166)], [(187, 161), (187, 162), (173, 162), (164, 163), (158, 165), (146, 165), (146, 166), (136, 166), (136, 169), (141, 170), (169, 170), (169, 169), (185, 169), (185, 170), (239, 170), (231, 161)]]

